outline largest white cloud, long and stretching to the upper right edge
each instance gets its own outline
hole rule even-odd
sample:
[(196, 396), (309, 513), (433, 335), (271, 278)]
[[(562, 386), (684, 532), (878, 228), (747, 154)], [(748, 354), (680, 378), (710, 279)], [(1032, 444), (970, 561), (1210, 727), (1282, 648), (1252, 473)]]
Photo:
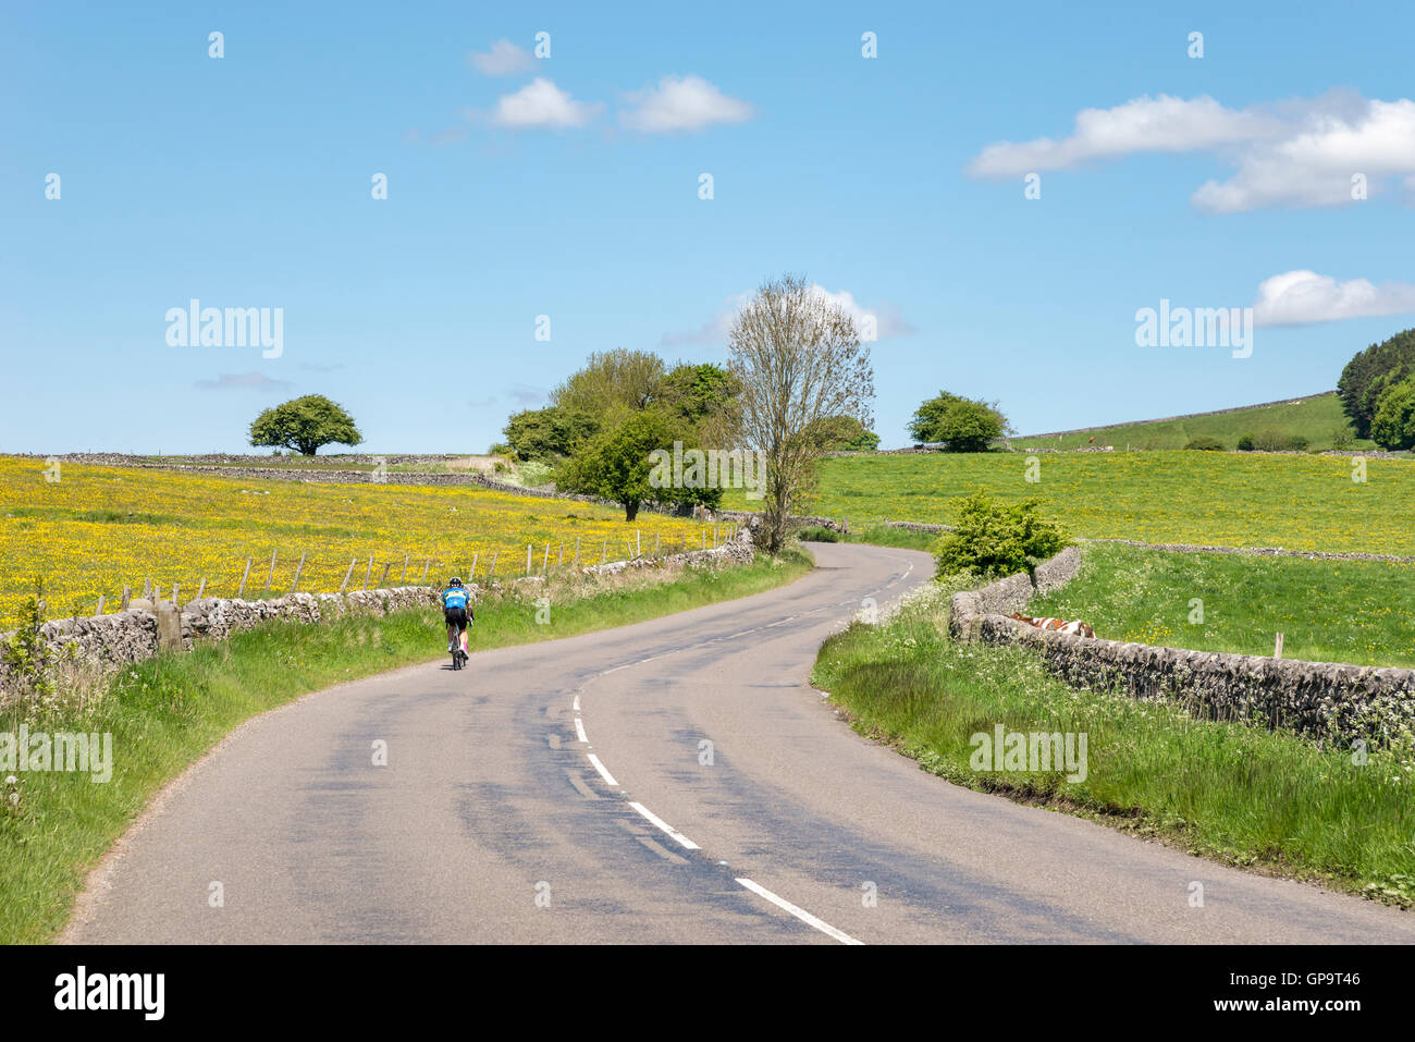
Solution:
[(1135, 153), (1210, 153), (1235, 168), (1190, 201), (1200, 210), (1334, 207), (1353, 202), (1353, 177), (1375, 194), (1388, 180), (1415, 184), (1415, 101), (1350, 91), (1228, 109), (1213, 98), (1136, 98), (1077, 113), (1061, 140), (999, 142), (968, 164), (974, 177), (1022, 177)]

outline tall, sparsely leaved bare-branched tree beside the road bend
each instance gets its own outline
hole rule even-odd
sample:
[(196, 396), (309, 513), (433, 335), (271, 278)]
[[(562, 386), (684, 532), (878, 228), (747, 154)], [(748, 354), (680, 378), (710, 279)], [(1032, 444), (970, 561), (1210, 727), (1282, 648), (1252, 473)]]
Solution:
[(761, 544), (781, 549), (787, 517), (815, 483), (824, 454), (812, 428), (828, 416), (870, 426), (874, 371), (850, 316), (807, 279), (767, 282), (737, 313), (729, 368), (741, 384), (741, 433), (767, 462)]

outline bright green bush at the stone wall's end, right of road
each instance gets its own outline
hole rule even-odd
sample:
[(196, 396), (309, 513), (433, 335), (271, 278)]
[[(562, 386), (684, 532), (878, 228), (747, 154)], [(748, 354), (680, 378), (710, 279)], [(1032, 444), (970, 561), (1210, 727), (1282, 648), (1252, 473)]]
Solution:
[(938, 575), (1032, 575), (1044, 561), (1071, 544), (1070, 537), (1039, 514), (1037, 500), (1002, 504), (978, 491), (958, 505), (954, 531), (938, 542)]

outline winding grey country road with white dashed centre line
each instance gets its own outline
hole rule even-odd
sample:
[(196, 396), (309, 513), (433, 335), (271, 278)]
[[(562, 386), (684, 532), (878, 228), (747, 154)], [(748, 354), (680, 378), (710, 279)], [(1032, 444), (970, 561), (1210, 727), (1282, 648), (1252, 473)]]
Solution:
[(250, 721), (119, 844), (64, 940), (1415, 941), (1415, 915), (959, 789), (860, 738), (807, 682), (816, 648), (932, 562), (812, 551), (768, 593)]

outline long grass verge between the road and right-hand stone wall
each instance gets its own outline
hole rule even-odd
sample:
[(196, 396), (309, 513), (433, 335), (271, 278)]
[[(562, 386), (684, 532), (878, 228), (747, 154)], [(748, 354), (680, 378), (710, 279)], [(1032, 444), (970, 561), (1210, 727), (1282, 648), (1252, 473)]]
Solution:
[[(957, 589), (957, 588), (954, 588)], [(860, 733), (979, 791), (1090, 817), (1190, 854), (1415, 902), (1415, 755), (1348, 750), (1169, 702), (1075, 689), (1026, 648), (947, 636), (947, 585), (825, 643), (812, 682)], [(1087, 776), (974, 770), (976, 733), (1087, 735)]]

